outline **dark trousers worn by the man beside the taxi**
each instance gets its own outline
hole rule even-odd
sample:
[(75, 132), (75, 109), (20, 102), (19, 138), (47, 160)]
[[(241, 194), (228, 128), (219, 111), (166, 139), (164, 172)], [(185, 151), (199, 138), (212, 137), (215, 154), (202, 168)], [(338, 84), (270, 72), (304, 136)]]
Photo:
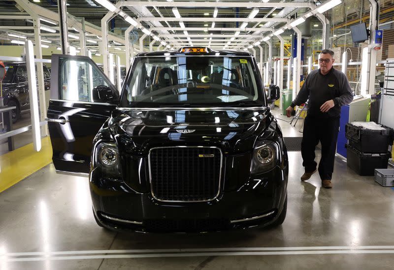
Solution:
[(315, 148), (319, 140), (322, 144), (322, 158), (319, 163), (319, 174), (322, 180), (331, 180), (334, 170), (336, 140), (339, 132), (338, 118), (313, 118), (307, 116), (301, 143), (302, 166), (306, 172), (316, 169)]

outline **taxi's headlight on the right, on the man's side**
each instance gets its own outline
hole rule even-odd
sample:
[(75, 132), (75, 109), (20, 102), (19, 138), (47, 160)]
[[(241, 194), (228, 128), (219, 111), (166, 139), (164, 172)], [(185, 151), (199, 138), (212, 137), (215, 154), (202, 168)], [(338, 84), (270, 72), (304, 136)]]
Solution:
[(278, 145), (271, 140), (257, 141), (250, 165), (251, 173), (261, 173), (273, 169), (278, 163)]

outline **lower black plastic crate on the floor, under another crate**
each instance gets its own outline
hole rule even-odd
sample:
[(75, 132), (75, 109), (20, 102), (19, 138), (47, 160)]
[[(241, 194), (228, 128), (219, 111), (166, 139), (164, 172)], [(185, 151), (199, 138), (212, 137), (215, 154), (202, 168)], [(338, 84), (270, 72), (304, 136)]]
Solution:
[(391, 153), (361, 153), (357, 149), (345, 144), (347, 152), (347, 164), (350, 169), (359, 175), (375, 175), (375, 169), (387, 169)]

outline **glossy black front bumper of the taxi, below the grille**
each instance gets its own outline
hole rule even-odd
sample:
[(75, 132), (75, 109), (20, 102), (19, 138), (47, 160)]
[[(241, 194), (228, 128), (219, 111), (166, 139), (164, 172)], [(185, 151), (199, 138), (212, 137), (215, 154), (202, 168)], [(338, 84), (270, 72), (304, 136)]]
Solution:
[(250, 177), (211, 202), (158, 202), (150, 193), (133, 191), (123, 181), (90, 174), (95, 216), (111, 230), (206, 232), (267, 226), (280, 215), (287, 195), (288, 169), (276, 167)]

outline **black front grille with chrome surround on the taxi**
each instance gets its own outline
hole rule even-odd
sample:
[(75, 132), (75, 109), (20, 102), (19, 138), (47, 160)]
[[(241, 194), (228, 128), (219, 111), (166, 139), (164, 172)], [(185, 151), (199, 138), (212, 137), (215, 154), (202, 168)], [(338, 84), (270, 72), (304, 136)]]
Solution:
[(219, 195), (222, 152), (213, 147), (157, 147), (149, 153), (152, 195), (164, 202), (204, 202)]

